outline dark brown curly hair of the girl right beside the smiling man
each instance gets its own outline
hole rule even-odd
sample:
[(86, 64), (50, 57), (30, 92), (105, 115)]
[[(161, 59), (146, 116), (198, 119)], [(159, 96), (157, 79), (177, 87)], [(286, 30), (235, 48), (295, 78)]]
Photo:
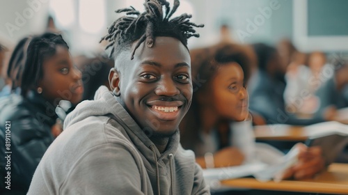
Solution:
[[(205, 95), (202, 92), (209, 90), (209, 84), (216, 76), (217, 70), (229, 63), (238, 63), (244, 72), (244, 87), (246, 87), (254, 63), (249, 51), (251, 48), (236, 44), (222, 44), (191, 50), (193, 97), (191, 107), (180, 123), (180, 143), (185, 149), (196, 151), (195, 147), (202, 141), (200, 131), (203, 122), (198, 114), (201, 112), (202, 105), (198, 99)], [(219, 146), (219, 148), (222, 147), (222, 145)]]

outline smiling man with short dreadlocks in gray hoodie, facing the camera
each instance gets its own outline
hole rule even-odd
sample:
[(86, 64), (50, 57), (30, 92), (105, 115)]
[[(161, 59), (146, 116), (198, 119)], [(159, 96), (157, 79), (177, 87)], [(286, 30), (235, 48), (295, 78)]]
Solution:
[[(209, 194), (177, 126), (191, 104), (187, 38), (198, 36), (191, 15), (170, 19), (174, 1), (145, 1), (109, 28), (113, 92), (68, 115), (63, 133), (36, 169), (30, 194)], [(163, 8), (164, 7), (164, 8)], [(163, 11), (163, 12), (162, 12)], [(132, 15), (135, 15), (133, 17)]]

